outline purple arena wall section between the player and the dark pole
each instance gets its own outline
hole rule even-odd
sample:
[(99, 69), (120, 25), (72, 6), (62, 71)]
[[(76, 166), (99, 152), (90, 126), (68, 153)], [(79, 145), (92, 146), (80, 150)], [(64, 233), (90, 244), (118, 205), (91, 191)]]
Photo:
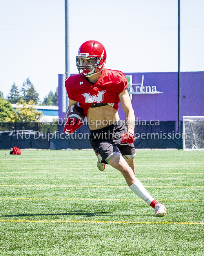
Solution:
[[(144, 87), (156, 86), (162, 94), (133, 94), (132, 105), (135, 118), (146, 121), (175, 121), (177, 119), (177, 73), (125, 73), (132, 75), (133, 83), (141, 83), (144, 75)], [(133, 85), (135, 89), (135, 85)], [(119, 110), (121, 119), (124, 114)]]

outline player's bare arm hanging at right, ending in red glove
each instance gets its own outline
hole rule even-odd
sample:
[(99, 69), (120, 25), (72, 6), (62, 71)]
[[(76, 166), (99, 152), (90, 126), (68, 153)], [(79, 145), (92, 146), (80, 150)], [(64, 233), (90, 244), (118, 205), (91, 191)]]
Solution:
[(135, 114), (132, 103), (129, 94), (127, 93), (127, 90), (123, 91), (118, 96), (120, 98), (120, 102), (125, 113), (125, 121), (127, 125), (127, 133), (122, 134), (122, 143), (133, 143), (135, 130)]

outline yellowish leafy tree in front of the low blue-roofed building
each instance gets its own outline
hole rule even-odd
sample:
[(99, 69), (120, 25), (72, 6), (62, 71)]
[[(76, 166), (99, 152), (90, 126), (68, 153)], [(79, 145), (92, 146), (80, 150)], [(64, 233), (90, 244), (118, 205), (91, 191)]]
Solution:
[(20, 100), (22, 107), (18, 107), (20, 104), (17, 102), (16, 115), (18, 122), (38, 122), (40, 117), (42, 116), (42, 111), (38, 111), (34, 108), (35, 102), (33, 100), (29, 100), (28, 104), (26, 100)]

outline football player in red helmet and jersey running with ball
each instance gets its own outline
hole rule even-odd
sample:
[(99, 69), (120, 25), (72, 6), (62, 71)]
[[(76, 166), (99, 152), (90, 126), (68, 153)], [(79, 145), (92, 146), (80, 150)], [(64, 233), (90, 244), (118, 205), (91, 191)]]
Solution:
[[(100, 171), (109, 164), (120, 171), (129, 188), (155, 209), (155, 216), (166, 216), (165, 206), (157, 202), (135, 177), (134, 129), (135, 115), (123, 72), (104, 69), (106, 49), (97, 41), (83, 43), (76, 56), (79, 74), (69, 76), (65, 86), (69, 108), (78, 105), (89, 123), (89, 141), (97, 155)], [(121, 102), (125, 122), (118, 115)], [(78, 123), (67, 122), (64, 131), (73, 132)]]

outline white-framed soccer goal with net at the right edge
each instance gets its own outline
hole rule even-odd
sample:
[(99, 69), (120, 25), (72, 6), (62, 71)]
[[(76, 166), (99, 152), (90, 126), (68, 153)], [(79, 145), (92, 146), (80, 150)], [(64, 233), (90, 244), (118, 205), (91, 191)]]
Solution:
[(183, 117), (183, 150), (204, 150), (204, 117)]

